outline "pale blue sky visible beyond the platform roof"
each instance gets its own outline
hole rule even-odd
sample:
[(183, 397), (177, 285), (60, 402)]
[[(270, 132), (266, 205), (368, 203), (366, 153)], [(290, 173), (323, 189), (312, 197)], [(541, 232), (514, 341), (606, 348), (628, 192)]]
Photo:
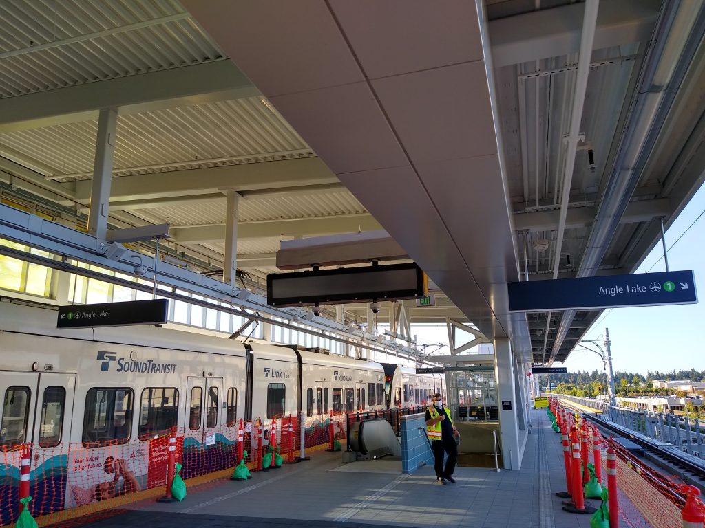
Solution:
[[(609, 329), (614, 372), (648, 370), (705, 370), (705, 186), (692, 197), (666, 231), (668, 268), (693, 270), (699, 299), (697, 304), (613, 308), (603, 311), (583, 339), (596, 339), (603, 348), (605, 328)], [(637, 273), (664, 272), (661, 239), (639, 266)], [(446, 326), (414, 325), (419, 343), (448, 344)], [(591, 346), (591, 344), (587, 344)], [(594, 348), (594, 347), (593, 347)], [(447, 354), (443, 348), (440, 354)], [(557, 364), (560, 365), (560, 364)], [(594, 352), (576, 347), (563, 363), (568, 372), (602, 370), (602, 360)]]

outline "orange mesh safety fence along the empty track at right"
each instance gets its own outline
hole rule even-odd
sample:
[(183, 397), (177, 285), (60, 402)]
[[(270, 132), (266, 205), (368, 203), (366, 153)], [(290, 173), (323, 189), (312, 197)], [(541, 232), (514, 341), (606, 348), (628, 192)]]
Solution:
[[(556, 414), (573, 425), (577, 420), (572, 411), (556, 405)], [(560, 418), (559, 418), (560, 419)], [(592, 428), (594, 432), (596, 429)], [(601, 453), (601, 467), (607, 467), (606, 448), (613, 446), (617, 466), (618, 510), (620, 521), (629, 528), (682, 527), (682, 510), (688, 487), (675, 477), (666, 477), (635, 457), (617, 441), (608, 441), (596, 432), (590, 434), (589, 452)], [(591, 457), (594, 458), (594, 457)], [(594, 460), (593, 460), (594, 461)], [(603, 474), (601, 484), (607, 484)], [(705, 514), (705, 503), (691, 495), (694, 510)], [(620, 524), (621, 525), (621, 524)]]

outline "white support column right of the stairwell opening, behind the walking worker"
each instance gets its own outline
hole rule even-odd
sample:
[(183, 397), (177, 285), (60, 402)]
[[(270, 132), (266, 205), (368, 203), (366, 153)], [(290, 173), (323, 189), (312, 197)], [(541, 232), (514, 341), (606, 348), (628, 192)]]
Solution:
[[(514, 390), (514, 357), (509, 339), (494, 340), (495, 379), (497, 383), (497, 408), (499, 412), (500, 441), (505, 470), (521, 468), (519, 452), (519, 425), (517, 423), (517, 405)], [(510, 402), (512, 409), (503, 410), (503, 402)]]

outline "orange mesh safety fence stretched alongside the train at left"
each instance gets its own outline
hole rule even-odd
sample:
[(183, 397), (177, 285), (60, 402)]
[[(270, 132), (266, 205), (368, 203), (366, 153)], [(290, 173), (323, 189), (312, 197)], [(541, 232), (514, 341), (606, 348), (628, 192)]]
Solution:
[[(346, 418), (342, 413), (305, 417), (305, 451), (329, 445), (331, 423), (334, 439), (344, 441)], [(240, 420), (235, 427), (179, 428), (176, 462), (183, 465), (180, 475), (187, 486), (223, 478), (226, 472), (229, 476), (245, 451), (245, 464), (257, 471), (270, 444), (285, 462), (295, 461), (300, 455), (301, 433), (296, 416), (277, 419), (274, 429), (272, 420), (259, 418)], [(28, 508), (37, 524), (46, 526), (164, 495), (168, 439), (169, 434), (157, 434), (147, 439), (96, 441), (96, 445), (4, 446), (0, 451), (0, 527), (12, 524), (19, 513), (23, 448), (29, 449), (30, 460), (32, 501)]]

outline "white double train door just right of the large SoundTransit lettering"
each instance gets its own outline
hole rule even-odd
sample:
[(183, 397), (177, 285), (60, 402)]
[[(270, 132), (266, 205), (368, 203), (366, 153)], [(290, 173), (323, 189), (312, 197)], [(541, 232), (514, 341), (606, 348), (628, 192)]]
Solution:
[(186, 435), (202, 444), (215, 441), (215, 433), (225, 419), (223, 378), (189, 377), (186, 383)]

